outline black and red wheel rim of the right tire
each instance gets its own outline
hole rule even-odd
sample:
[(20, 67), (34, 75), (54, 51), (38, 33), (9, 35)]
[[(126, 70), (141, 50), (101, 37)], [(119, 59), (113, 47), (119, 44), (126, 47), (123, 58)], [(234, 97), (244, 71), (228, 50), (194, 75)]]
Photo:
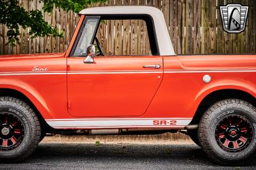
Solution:
[(242, 151), (252, 141), (252, 125), (243, 116), (227, 116), (218, 123), (215, 137), (223, 150), (228, 152)]

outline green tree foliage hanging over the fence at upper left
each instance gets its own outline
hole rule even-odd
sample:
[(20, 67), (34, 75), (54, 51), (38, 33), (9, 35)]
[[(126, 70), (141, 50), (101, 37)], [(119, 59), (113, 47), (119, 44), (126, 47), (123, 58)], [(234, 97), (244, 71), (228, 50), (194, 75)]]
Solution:
[[(65, 11), (72, 10), (79, 12), (86, 8), (88, 4), (102, 3), (106, 0), (42, 0), (44, 12), (51, 13), (54, 5)], [(63, 36), (63, 31), (58, 31), (55, 27), (45, 22), (43, 14), (39, 10), (26, 11), (19, 6), (19, 0), (0, 0), (0, 23), (8, 27), (8, 43), (15, 45), (19, 43), (19, 26), (23, 29), (29, 28), (31, 38), (38, 36)]]

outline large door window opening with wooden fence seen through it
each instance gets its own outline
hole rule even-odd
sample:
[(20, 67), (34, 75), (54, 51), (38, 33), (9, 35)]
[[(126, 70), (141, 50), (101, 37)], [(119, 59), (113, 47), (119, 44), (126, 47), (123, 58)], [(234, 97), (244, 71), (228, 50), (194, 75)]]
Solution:
[[(142, 19), (102, 19), (96, 38), (105, 56), (152, 55), (147, 24)], [(97, 44), (94, 41), (99, 49)]]

